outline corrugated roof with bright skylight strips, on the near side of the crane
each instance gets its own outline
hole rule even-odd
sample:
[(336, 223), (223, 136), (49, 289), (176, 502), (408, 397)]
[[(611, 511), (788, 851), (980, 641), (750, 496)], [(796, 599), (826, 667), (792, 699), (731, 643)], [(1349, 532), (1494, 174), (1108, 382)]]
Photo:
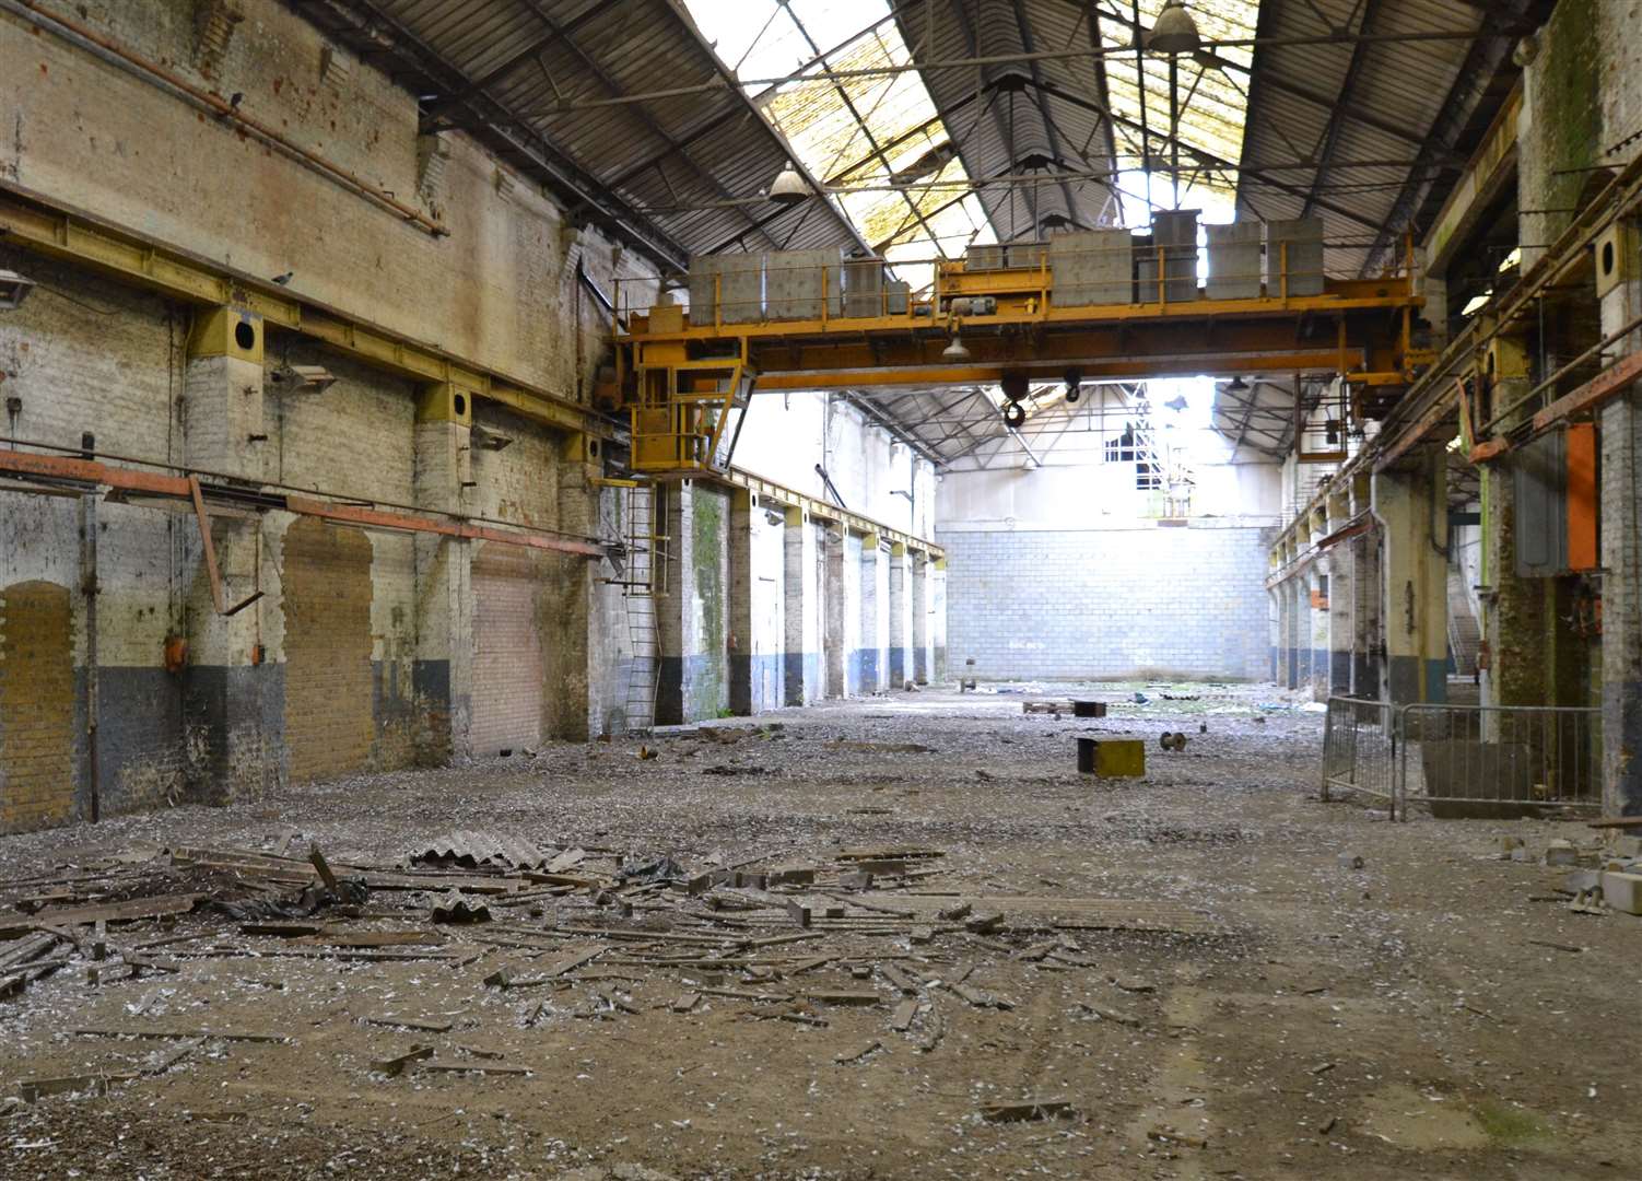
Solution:
[[(1148, 158), (1141, 123), (1153, 172), (1169, 158), (1169, 59), (1159, 54), (1140, 64), (1128, 53), (1107, 53), (924, 69), (844, 85), (813, 77), (908, 57), (1126, 49), (1136, 0), (287, 3), (373, 61), (397, 59), (388, 67), (427, 95), (430, 110), (488, 131), (512, 166), (532, 171), (545, 159), (537, 169), (544, 179), (568, 177), (603, 212), (644, 227), (644, 240), (675, 260), (685, 251), (860, 243), (901, 243), (901, 253), (933, 253), (934, 243), (959, 253), (977, 217), (998, 238), (1112, 223), (1120, 217), (1112, 174)], [(711, 16), (719, 53), (686, 3)], [(1138, 0), (1140, 30), (1163, 3)], [(1494, 8), (1511, 16), (1529, 3), (1502, 0)], [(1259, 13), (1264, 43), (1177, 59), (1179, 85), (1190, 95), (1179, 123), (1182, 168), (1207, 189), (1227, 189), (1238, 176), (1245, 217), (1322, 214), (1330, 240), (1342, 243), (1328, 251), (1337, 274), (1361, 269), (1376, 243), (1384, 248), (1386, 222), (1415, 214), (1427, 182), (1455, 163), (1458, 133), (1471, 108), (1486, 103), (1483, 87), (1509, 43), (1493, 38), (1493, 51), (1479, 53), (1483, 41), (1353, 39), (1484, 28), (1478, 7), (1452, 0), (1194, 0), (1192, 8), (1209, 41), (1245, 39)], [(1338, 39), (1282, 43), (1319, 36)], [(747, 95), (736, 79), (757, 77), (760, 64), (773, 64), (775, 74), (808, 66), (811, 77)], [(688, 87), (716, 89), (654, 95)], [(645, 94), (652, 97), (621, 100)], [(859, 122), (839, 115), (846, 95)], [(824, 181), (880, 191), (773, 207), (762, 194), (788, 154)], [(1217, 171), (1215, 159), (1241, 172)], [(834, 161), (839, 172), (829, 168)], [(962, 189), (888, 191), (903, 171), (921, 182), (984, 187), (969, 197)], [(1034, 174), (1044, 179), (1002, 181)]]

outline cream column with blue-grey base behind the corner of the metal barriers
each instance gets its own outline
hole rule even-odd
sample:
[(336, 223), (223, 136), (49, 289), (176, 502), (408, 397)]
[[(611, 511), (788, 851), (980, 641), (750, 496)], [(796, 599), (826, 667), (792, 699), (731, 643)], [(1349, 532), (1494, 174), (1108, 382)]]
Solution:
[(1373, 478), (1374, 516), (1386, 531), (1386, 700), (1448, 700), (1447, 452), (1415, 448)]

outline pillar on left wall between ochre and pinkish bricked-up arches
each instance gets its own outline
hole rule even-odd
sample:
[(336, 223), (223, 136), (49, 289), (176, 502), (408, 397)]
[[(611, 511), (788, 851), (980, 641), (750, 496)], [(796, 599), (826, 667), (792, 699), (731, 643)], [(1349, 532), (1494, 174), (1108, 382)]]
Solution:
[[(471, 406), (458, 411), (448, 386), (417, 399), (415, 503), (435, 512), (460, 512), (471, 476)], [(427, 756), (442, 761), (473, 752), (473, 542), (417, 534), (415, 660), (410, 690)]]

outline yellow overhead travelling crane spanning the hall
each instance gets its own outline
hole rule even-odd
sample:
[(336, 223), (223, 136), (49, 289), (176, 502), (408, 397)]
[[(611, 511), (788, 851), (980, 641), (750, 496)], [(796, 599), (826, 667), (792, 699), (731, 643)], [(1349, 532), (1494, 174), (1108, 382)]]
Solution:
[[(1011, 404), (1030, 381), (1345, 375), (1355, 393), (1379, 388), (1394, 396), (1433, 358), (1414, 347), (1424, 299), (1414, 291), (1412, 264), (1384, 279), (1340, 281), (1314, 271), (1302, 284), (1282, 245), (1269, 251), (1269, 274), (1243, 284), (1258, 294), (1207, 299), (1197, 287), (1195, 245), (1189, 263), (1179, 253), (1164, 256), (1181, 248), (1158, 246), (1156, 260), (1136, 266), (1135, 283), (1108, 284), (1107, 292), (1126, 292), (1128, 302), (1069, 304), (1056, 297), (1049, 251), (1038, 246), (1036, 266), (992, 266), (977, 251), (939, 261), (921, 297), (878, 283), (867, 301), (877, 307), (862, 307), (854, 296), (846, 301), (831, 286), (860, 261), (813, 266), (814, 289), (785, 304), (814, 312), (803, 319), (775, 319), (762, 304), (755, 314), (737, 314), (724, 299), (726, 284), (736, 283), (726, 273), (708, 276), (711, 286), (691, 278), (691, 302), (711, 312), (703, 322), (677, 304), (622, 309), (616, 384), (604, 397), (608, 409), (629, 411), (632, 468), (658, 478), (724, 471), (734, 452), (729, 412), (744, 407), (754, 388), (1000, 384), (1005, 417), (1018, 425), (1010, 411), (1018, 416), (1021, 407)], [(988, 264), (977, 266), (982, 260)], [(1184, 291), (1192, 297), (1171, 299)]]

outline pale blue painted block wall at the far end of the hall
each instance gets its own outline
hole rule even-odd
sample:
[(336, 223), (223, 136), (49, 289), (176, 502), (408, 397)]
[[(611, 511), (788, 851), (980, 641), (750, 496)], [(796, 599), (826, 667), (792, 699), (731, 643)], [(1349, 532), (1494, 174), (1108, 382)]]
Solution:
[(943, 529), (947, 659), (987, 678), (1264, 678), (1268, 529)]

